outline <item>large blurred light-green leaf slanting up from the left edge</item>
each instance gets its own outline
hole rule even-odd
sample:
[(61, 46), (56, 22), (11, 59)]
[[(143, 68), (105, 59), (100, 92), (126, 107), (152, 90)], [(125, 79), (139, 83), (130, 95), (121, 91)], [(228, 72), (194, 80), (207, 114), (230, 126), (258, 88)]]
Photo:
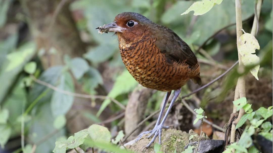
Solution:
[(35, 44), (26, 43), (18, 48), (16, 52), (7, 55), (7, 59), (4, 61), (0, 71), (0, 103), (19, 72), (22, 71), (24, 64), (28, 62), (34, 54)]

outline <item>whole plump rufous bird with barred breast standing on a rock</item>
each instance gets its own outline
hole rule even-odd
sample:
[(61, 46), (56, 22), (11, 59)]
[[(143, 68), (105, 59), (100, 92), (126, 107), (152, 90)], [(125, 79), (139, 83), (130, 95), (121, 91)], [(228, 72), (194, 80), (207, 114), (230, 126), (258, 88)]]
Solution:
[[(114, 32), (118, 37), (121, 59), (135, 80), (144, 87), (167, 92), (158, 120), (153, 130), (141, 133), (153, 136), (148, 148), (159, 137), (171, 107), (181, 92), (181, 87), (191, 79), (201, 85), (200, 65), (195, 54), (173, 30), (156, 24), (134, 12), (118, 14), (114, 22), (97, 27), (99, 33)], [(162, 119), (171, 91), (173, 99)], [(162, 119), (162, 120), (161, 120)]]

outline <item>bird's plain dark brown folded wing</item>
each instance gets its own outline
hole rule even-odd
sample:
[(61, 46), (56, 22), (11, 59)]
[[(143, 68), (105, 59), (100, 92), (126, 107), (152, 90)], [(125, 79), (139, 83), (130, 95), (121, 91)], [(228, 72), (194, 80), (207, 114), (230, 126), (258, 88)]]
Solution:
[(191, 48), (173, 30), (159, 26), (153, 37), (156, 38), (156, 47), (167, 57), (167, 62), (186, 63), (192, 71), (199, 66)]

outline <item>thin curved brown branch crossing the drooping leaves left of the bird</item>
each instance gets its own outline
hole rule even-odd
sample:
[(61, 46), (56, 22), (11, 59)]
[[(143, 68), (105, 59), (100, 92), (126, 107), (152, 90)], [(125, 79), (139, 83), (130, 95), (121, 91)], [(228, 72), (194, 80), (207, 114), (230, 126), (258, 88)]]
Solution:
[(69, 91), (61, 90), (61, 89), (59, 89), (59, 88), (55, 87), (54, 85), (51, 85), (51, 84), (49, 84), (47, 82), (41, 81), (41, 80), (35, 78), (33, 75), (31, 75), (31, 78), (33, 79), (33, 81), (35, 81), (38, 84), (44, 85), (44, 86), (46, 86), (48, 88), (51, 88), (52, 90), (55, 90), (55, 91), (58, 91), (60, 93), (67, 94), (67, 95), (70, 95), (70, 96), (81, 97), (81, 98), (89, 98), (89, 99), (91, 99), (91, 98), (109, 99), (112, 102), (114, 102), (115, 104), (117, 104), (120, 108), (125, 110), (125, 106), (123, 106), (120, 102), (118, 102), (117, 100), (115, 100), (112, 97), (102, 96), (102, 95), (89, 95), (89, 94), (72, 93), (72, 92), (69, 92)]

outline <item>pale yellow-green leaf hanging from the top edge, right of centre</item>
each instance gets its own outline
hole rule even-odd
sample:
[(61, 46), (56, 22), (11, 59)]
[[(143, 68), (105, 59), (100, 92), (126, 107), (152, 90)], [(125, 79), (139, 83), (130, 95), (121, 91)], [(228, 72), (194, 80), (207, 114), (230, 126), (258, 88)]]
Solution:
[(222, 1), (223, 0), (203, 0), (203, 1), (195, 2), (188, 8), (188, 10), (186, 10), (181, 15), (188, 14), (190, 11), (194, 11), (193, 15), (195, 16), (205, 14), (210, 9), (212, 9), (214, 4), (221, 4)]

